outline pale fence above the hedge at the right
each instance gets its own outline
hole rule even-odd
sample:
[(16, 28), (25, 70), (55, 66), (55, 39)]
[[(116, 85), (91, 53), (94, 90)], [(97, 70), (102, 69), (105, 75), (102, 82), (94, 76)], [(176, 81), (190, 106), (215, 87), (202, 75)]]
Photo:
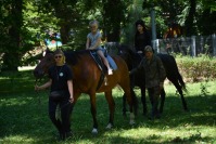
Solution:
[(153, 41), (157, 53), (181, 53), (182, 55), (198, 56), (208, 54), (216, 56), (216, 35), (192, 36), (171, 39), (156, 39)]

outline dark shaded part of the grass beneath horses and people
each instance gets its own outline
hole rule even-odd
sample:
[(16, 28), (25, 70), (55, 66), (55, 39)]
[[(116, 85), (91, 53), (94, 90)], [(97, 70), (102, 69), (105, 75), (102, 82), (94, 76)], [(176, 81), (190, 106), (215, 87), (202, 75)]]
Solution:
[[(7, 138), (9, 139), (10, 136), (21, 136), (23, 138), (24, 142), (26, 142), (28, 139), (33, 139), (34, 142), (38, 143), (50, 143), (54, 141), (53, 133), (55, 132), (55, 129), (50, 122), (47, 112), (47, 92), (40, 92), (39, 94), (39, 96), (41, 96), (40, 103), (34, 92), (1, 96), (1, 139), (4, 139), (5, 142)], [(187, 129), (188, 126), (211, 127), (215, 123), (216, 96), (214, 95), (208, 95), (207, 97), (187, 97), (187, 102), (190, 107), (190, 112), (188, 113), (182, 110), (179, 97), (168, 96), (166, 99), (164, 114), (160, 120), (149, 120), (139, 113), (137, 117), (137, 123), (134, 127), (129, 126), (128, 117), (124, 118), (122, 116), (122, 96), (115, 96), (114, 100), (116, 103), (114, 131), (129, 131), (130, 129), (137, 129), (140, 127), (158, 130), (165, 130), (166, 128), (176, 129), (178, 127), (183, 127)], [(149, 103), (148, 107), (150, 109)], [(103, 93), (97, 94), (97, 110), (100, 134), (93, 136), (91, 134), (92, 117), (90, 114), (89, 97), (85, 94), (79, 97), (77, 104), (75, 105), (72, 118), (72, 128), (75, 131), (75, 135), (74, 138), (67, 140), (68, 142), (84, 141), (84, 143), (100, 143), (101, 141), (104, 141), (109, 143), (187, 143), (195, 142), (201, 139), (199, 135), (189, 135), (187, 139), (176, 136), (174, 140), (163, 140), (162, 142), (161, 136), (156, 134), (152, 134), (145, 139), (139, 138), (135, 140), (123, 138), (120, 136), (120, 133), (118, 136), (106, 136), (106, 133), (112, 132), (112, 130), (105, 130), (109, 121), (109, 107)], [(10, 142), (12, 140), (8, 141)], [(211, 138), (202, 138), (202, 141), (208, 142), (211, 141)]]

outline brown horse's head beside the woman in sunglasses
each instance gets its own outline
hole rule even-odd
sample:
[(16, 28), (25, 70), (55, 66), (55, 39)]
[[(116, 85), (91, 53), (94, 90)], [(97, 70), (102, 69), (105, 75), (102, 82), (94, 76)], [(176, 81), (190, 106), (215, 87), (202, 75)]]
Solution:
[(45, 56), (40, 60), (40, 63), (34, 69), (34, 76), (36, 79), (42, 78), (46, 74), (48, 74), (49, 67), (54, 65), (53, 52), (47, 50), (43, 55)]

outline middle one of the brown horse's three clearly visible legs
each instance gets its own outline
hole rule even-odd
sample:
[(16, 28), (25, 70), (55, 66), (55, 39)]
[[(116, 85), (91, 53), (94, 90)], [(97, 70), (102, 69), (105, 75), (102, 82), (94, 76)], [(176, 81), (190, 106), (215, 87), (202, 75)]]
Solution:
[(107, 129), (111, 129), (113, 127), (113, 121), (114, 121), (114, 112), (115, 112), (115, 102), (112, 96), (112, 90), (105, 92), (105, 99), (109, 103), (109, 110), (110, 110), (110, 119), (109, 119), (109, 125)]

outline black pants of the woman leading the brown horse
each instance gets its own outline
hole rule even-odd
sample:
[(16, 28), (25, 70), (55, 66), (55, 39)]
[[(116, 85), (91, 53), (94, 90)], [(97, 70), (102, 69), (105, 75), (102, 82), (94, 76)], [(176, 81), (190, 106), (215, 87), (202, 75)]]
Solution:
[[(55, 118), (55, 110), (58, 105), (61, 108), (61, 120)], [(61, 101), (52, 101), (49, 99), (49, 116), (52, 123), (59, 130), (60, 135), (65, 135), (71, 131), (69, 116), (72, 113), (73, 105), (68, 102), (68, 99)]]

